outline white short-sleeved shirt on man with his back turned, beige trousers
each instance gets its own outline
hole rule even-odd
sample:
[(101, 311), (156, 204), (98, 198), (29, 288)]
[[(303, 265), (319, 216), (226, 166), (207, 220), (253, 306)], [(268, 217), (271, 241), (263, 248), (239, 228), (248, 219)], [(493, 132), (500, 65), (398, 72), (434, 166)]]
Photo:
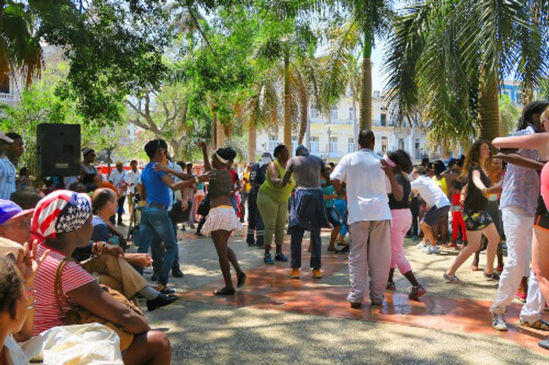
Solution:
[(349, 225), (360, 221), (390, 220), (390, 181), (379, 163), (381, 156), (369, 149), (344, 155), (330, 179), (347, 184)]

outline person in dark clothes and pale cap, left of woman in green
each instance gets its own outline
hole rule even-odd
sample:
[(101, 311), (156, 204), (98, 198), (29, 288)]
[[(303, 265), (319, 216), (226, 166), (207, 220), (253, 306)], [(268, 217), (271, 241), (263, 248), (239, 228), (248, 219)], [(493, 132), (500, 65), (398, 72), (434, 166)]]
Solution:
[(264, 248), (264, 230), (265, 225), (259, 209), (257, 209), (257, 193), (259, 186), (265, 181), (267, 167), (272, 162), (272, 156), (268, 152), (261, 155), (258, 163), (253, 164), (250, 171), (250, 192), (248, 193), (248, 235), (246, 242), (248, 246), (257, 246), (260, 249)]

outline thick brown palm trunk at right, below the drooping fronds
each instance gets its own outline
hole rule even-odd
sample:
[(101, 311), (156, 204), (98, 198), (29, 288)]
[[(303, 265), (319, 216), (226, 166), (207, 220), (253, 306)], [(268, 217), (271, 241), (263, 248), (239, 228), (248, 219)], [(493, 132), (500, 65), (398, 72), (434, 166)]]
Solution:
[(491, 141), (500, 135), (498, 75), (484, 74), (482, 79), (478, 96), (478, 137)]

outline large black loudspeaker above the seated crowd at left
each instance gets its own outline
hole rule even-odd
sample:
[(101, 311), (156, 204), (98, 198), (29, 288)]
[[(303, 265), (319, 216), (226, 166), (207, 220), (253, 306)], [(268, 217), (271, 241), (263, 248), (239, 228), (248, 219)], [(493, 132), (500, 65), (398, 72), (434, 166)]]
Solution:
[(80, 175), (79, 124), (39, 124), (36, 149), (39, 176)]

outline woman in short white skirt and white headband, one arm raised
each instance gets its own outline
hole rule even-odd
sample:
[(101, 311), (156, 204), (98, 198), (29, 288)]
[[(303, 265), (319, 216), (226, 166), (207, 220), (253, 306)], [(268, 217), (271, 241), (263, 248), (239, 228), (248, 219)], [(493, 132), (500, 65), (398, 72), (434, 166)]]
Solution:
[(225, 281), (225, 287), (215, 290), (213, 294), (233, 295), (235, 288), (231, 280), (230, 264), (233, 264), (236, 270), (237, 286), (243, 286), (246, 281), (246, 274), (240, 269), (235, 252), (227, 244), (231, 232), (242, 229), (242, 224), (231, 204), (233, 180), (227, 167), (235, 159), (236, 152), (231, 147), (217, 149), (211, 157), (210, 164), (205, 142), (200, 142), (198, 145), (202, 148), (205, 171), (210, 171), (208, 188), (210, 212), (204, 227), (202, 227), (202, 233), (210, 235), (213, 244), (215, 244), (215, 251), (218, 252), (219, 265)]

